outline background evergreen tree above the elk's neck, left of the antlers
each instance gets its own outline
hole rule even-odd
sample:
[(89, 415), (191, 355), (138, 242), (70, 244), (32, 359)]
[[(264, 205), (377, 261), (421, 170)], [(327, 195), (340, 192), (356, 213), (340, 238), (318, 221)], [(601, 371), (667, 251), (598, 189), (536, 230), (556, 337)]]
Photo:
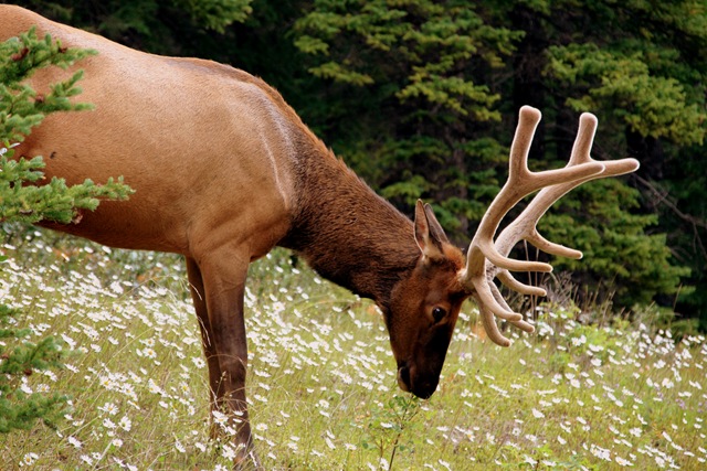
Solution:
[(327, 141), (399, 207), (428, 199), (468, 240), (507, 160), (488, 84), (520, 34), (468, 2), (429, 0), (315, 1), (294, 31), (309, 72), (334, 82)]

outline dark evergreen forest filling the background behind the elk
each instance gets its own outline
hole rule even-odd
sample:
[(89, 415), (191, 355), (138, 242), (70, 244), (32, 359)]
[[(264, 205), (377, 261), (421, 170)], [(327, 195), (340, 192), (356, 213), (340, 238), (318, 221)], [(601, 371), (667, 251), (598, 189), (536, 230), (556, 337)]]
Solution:
[(431, 202), (460, 246), (505, 181), (520, 106), (544, 114), (534, 169), (563, 165), (594, 113), (594, 157), (642, 167), (544, 217), (545, 235), (585, 255), (555, 263), (556, 296), (707, 329), (707, 0), (17, 3), (263, 77), (402, 211)]

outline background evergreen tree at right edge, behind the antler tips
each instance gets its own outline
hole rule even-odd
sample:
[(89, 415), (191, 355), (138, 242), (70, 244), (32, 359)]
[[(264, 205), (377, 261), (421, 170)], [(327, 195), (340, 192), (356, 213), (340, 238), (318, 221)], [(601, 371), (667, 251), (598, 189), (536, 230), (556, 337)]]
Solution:
[[(525, 11), (526, 19), (534, 19), (525, 24), (541, 30), (545, 53), (539, 55), (535, 79), (542, 82), (542, 99), (556, 110), (550, 119), (558, 159), (571, 142), (567, 116), (560, 111), (567, 108), (577, 114), (592, 110), (601, 117), (601, 147), (595, 153), (629, 154), (642, 163), (627, 180), (633, 189), (618, 191), (615, 182), (597, 182), (561, 202), (581, 210), (576, 217), (593, 222), (587, 225), (587, 234), (577, 237), (580, 243), (588, 237), (590, 250), (583, 260), (590, 271), (577, 280), (594, 286), (597, 277), (603, 277), (600, 285), (615, 290), (623, 306), (662, 299), (673, 307), (682, 299), (689, 302), (680, 304), (683, 309), (692, 310), (692, 315), (701, 311), (707, 322), (707, 303), (699, 306), (700, 296), (705, 302), (704, 289), (685, 286), (706, 281), (707, 253), (704, 245), (701, 253), (696, 249), (707, 236), (704, 205), (693, 204), (685, 212), (677, 208), (677, 201), (690, 203), (690, 196), (699, 199), (704, 190), (695, 186), (695, 179), (705, 181), (704, 172), (687, 175), (678, 169), (685, 169), (686, 161), (704, 162), (703, 149), (699, 157), (685, 159), (685, 154), (687, 149), (699, 149), (707, 132), (707, 67), (700, 58), (707, 52), (707, 6), (695, 0), (509, 3)], [(614, 199), (636, 210), (618, 212)], [(593, 203), (582, 207), (582, 201)], [(693, 226), (692, 247), (675, 225), (679, 214), (682, 227)], [(550, 217), (545, 228), (551, 233), (561, 227), (556, 223)], [(590, 244), (592, 239), (606, 243), (597, 246)], [(598, 250), (603, 255), (598, 256)], [(680, 251), (683, 256), (677, 257)], [(578, 268), (572, 261), (566, 267)]]

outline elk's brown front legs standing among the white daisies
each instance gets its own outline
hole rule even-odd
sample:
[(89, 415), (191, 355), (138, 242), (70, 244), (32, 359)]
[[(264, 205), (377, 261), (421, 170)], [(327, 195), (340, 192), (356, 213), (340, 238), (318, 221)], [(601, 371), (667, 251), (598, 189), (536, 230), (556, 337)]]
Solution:
[[(245, 261), (244, 261), (245, 260)], [(250, 257), (233, 251), (214, 250), (194, 263), (188, 261), (189, 279), (199, 290), (199, 279), (205, 299), (194, 300), (209, 361), (209, 384), (212, 407), (226, 414), (235, 430), (234, 445), (239, 461), (253, 461), (260, 468), (253, 450), (253, 438), (245, 402), (247, 345), (243, 315), (243, 293)], [(197, 277), (197, 274), (200, 276)], [(193, 279), (192, 279), (193, 278)], [(201, 312), (200, 312), (201, 311)]]

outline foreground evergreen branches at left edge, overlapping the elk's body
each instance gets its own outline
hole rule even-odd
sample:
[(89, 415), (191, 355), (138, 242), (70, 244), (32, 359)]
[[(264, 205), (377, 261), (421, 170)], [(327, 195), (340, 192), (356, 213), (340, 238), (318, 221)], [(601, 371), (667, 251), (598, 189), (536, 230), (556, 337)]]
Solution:
[[(71, 223), (78, 210), (94, 210), (99, 199), (125, 199), (129, 194), (120, 180), (66, 186), (63, 180), (52, 179), (43, 186), (24, 185), (42, 178), (42, 158), (13, 159), (13, 144), (21, 142), (45, 115), (89, 107), (70, 99), (81, 92), (76, 86), (81, 72), (53, 85), (43, 96), (22, 82), (38, 68), (66, 67), (88, 54), (92, 52), (62, 47), (49, 36), (40, 40), (33, 31), (0, 44), (0, 222)], [(34, 372), (61, 367), (63, 353), (52, 338), (28, 341), (30, 330), (17, 328), (19, 315), (17, 310), (0, 306), (1, 433), (30, 428), (36, 419), (53, 424), (66, 400), (57, 393), (33, 392), (23, 383)]]

